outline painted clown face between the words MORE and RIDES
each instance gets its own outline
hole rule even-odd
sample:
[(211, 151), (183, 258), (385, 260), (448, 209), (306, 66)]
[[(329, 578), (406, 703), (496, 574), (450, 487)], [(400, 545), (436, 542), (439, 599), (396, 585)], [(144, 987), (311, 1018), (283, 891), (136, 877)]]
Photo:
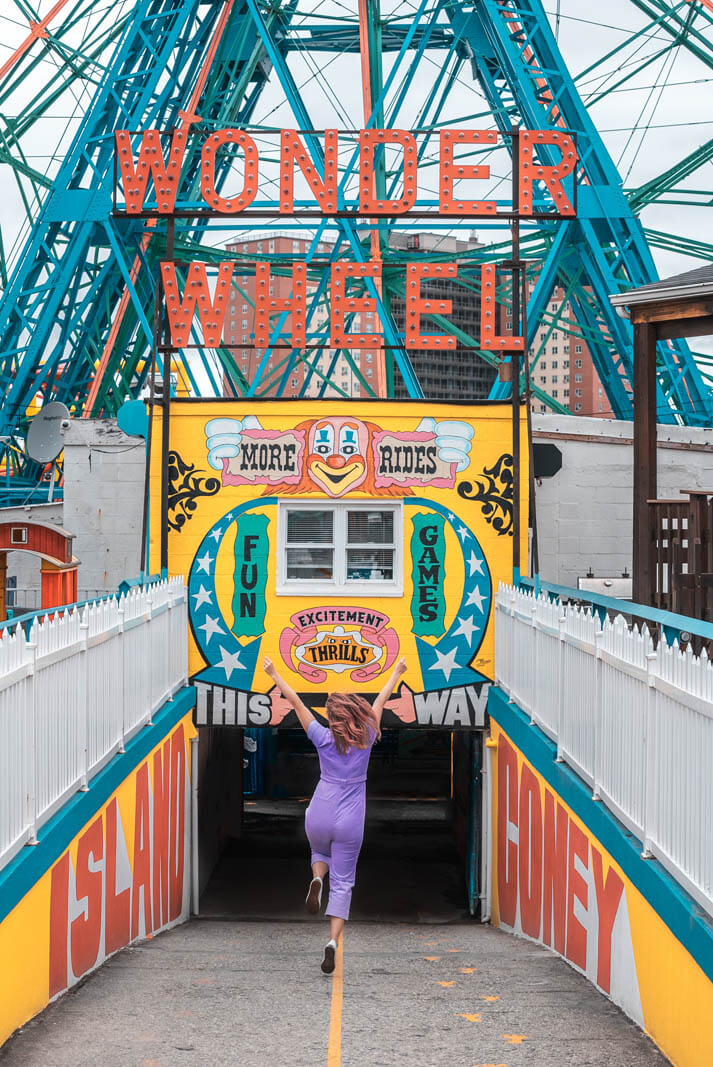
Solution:
[(307, 439), (307, 471), (330, 496), (342, 496), (366, 479), (368, 430), (359, 419), (315, 423)]

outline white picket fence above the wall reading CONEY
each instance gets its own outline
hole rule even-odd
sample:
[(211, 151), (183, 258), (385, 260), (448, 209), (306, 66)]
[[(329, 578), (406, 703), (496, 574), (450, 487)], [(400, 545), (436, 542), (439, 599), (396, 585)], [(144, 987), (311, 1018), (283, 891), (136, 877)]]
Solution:
[(495, 681), (713, 914), (713, 664), (622, 616), (501, 585)]

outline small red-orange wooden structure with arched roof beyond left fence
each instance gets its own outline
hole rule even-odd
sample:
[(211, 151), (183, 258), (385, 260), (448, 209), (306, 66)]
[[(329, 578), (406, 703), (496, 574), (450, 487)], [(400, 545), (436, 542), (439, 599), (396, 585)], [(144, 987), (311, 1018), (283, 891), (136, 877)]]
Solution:
[(0, 621), (5, 608), (7, 553), (29, 552), (42, 560), (42, 607), (61, 607), (77, 600), (79, 560), (73, 554), (74, 534), (48, 523), (0, 523)]

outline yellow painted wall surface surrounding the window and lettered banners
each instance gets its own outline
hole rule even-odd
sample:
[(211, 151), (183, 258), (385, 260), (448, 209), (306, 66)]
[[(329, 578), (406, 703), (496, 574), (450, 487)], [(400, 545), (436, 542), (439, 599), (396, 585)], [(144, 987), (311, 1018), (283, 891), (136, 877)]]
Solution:
[[(424, 424), (424, 419), (432, 421)], [(339, 442), (344, 444), (346, 434), (348, 445), (349, 433), (352, 434), (352, 450), (347, 448), (345, 455), (344, 448), (339, 450)], [(222, 437), (225, 450), (235, 455), (222, 453)], [(156, 570), (160, 563), (160, 413), (156, 415), (153, 440), (150, 559), (152, 569)], [(511, 492), (508, 457), (512, 453), (509, 404), (174, 401), (170, 441), (169, 571), (186, 574), (191, 583), (190, 672), (193, 676), (205, 678), (212, 685), (265, 694), (270, 689), (270, 682), (263, 672), (262, 659), (268, 655), (298, 691), (322, 695), (349, 688), (368, 694), (381, 687), (382, 675), (391, 664), (397, 656), (405, 655), (409, 664), (407, 682), (414, 692), (443, 690), (492, 678), (492, 592), (500, 580), (510, 579), (512, 574), (512, 514), (507, 500), (508, 489)], [(248, 455), (245, 443), (252, 448), (260, 443), (292, 447), (295, 465), (289, 466), (288, 453), (283, 452), (275, 460), (274, 472), (256, 473), (251, 468), (243, 476), (240, 463)], [(524, 416), (521, 443), (524, 458), (521, 506), (526, 516)], [(431, 469), (438, 468), (438, 475), (429, 477), (423, 451), (419, 459), (414, 460), (416, 446), (431, 449), (428, 463)], [(421, 474), (415, 471), (412, 475), (394, 473), (392, 460), (400, 447), (405, 448), (403, 464), (419, 463)], [(317, 448), (321, 451), (317, 452)], [(454, 456), (459, 457), (459, 461), (451, 460)], [(329, 462), (340, 466), (330, 468)], [(287, 471), (295, 473), (286, 474)], [(332, 484), (332, 475), (342, 480)], [(269, 499), (263, 504), (265, 494)], [(333, 504), (364, 501), (374, 501), (375, 508), (394, 503), (402, 506), (403, 532), (398, 548), (403, 566), (401, 594), (373, 593), (367, 582), (350, 587), (348, 593), (312, 591), (310, 588), (290, 594), (279, 591), (276, 501), (316, 501), (326, 508)], [(259, 550), (263, 553), (260, 580), (265, 587), (264, 619), (258, 619), (257, 623), (253, 620), (252, 624), (249, 621), (247, 626), (244, 618), (234, 611), (233, 604), (236, 539), (238, 552), (243, 552), (239, 539), (245, 515), (250, 515), (251, 521), (264, 516), (266, 531)], [(435, 516), (443, 522), (441, 577), (445, 609), (439, 632), (431, 626), (424, 633), (423, 620), (414, 618), (412, 537), (418, 515)], [(416, 546), (419, 545), (417, 542)], [(521, 553), (524, 560), (526, 552), (526, 529), (523, 529)], [(205, 562), (201, 563), (202, 560)], [(486, 563), (482, 569), (481, 560)], [(203, 594), (201, 587), (205, 590)], [(471, 595), (475, 595), (475, 601), (469, 603)], [(204, 599), (206, 596), (209, 599)], [(347, 670), (344, 666), (337, 670), (328, 665), (321, 673), (317, 672), (319, 676), (312, 678), (306, 668), (300, 668), (298, 650), (302, 626), (294, 619), (310, 609), (330, 607), (365, 608), (383, 617), (382, 623), (376, 626), (376, 639), (374, 626), (353, 621), (347, 625), (342, 620), (343, 630), (351, 631), (352, 643), (371, 641), (377, 650), (361, 653), (352, 649), (353, 654), (368, 655), (373, 657), (370, 662), (376, 663), (378, 670), (371, 670), (368, 676), (362, 678), (359, 670)], [(206, 622), (208, 617), (212, 622)], [(310, 633), (317, 642), (330, 641), (339, 624), (337, 619), (324, 621), (322, 615), (321, 622)], [(206, 631), (206, 625), (211, 631)], [(459, 627), (460, 633), (457, 633)], [(308, 625), (304, 628), (310, 630)], [(287, 631), (291, 634), (286, 635)], [(304, 638), (308, 639), (310, 636)], [(316, 653), (304, 650), (301, 654)], [(227, 665), (227, 669), (221, 668), (221, 664)], [(275, 714), (280, 712), (273, 707), (273, 724)]]

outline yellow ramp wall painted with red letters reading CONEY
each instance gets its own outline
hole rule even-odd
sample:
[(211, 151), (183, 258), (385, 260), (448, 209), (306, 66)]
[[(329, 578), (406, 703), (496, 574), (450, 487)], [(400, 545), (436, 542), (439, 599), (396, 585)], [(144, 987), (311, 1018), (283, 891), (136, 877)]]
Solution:
[[(555, 862), (548, 864), (545, 859), (548, 824), (544, 812), (545, 806), (551, 805), (550, 810), (555, 812), (553, 819), (556, 821), (559, 808), (560, 826), (567, 825), (569, 830), (564, 883), (560, 879), (560, 892), (566, 901), (565, 938), (564, 946), (559, 945), (563, 950), (560, 954), (619, 1004), (676, 1067), (708, 1067), (713, 1064), (713, 1029), (710, 1024), (713, 1018), (713, 982), (586, 824), (538, 774), (498, 723), (491, 719), (491, 724), (495, 743), (491, 749), (492, 922), (533, 937), (555, 950), (558, 947), (554, 924), (550, 934), (546, 933), (544, 908), (540, 910), (540, 929), (535, 930), (533, 917), (537, 908), (533, 905), (532, 887), (536, 887), (537, 897), (537, 886), (540, 883), (537, 855), (541, 848), (544, 904), (544, 885), (549, 880), (545, 869), (548, 865), (550, 871), (556, 869)], [(516, 766), (517, 773), (513, 773)], [(537, 814), (534, 827), (526, 815), (532, 809), (537, 812), (534, 796), (539, 797), (541, 832), (538, 830)], [(533, 841), (540, 844), (532, 844)], [(527, 857), (524, 860), (521, 857), (522, 847)], [(607, 886), (608, 896), (604, 892)], [(617, 898), (619, 888), (620, 896), (612, 922), (612, 901)], [(583, 902), (585, 896), (586, 903)], [(517, 901), (514, 910), (513, 897)], [(693, 904), (691, 910), (693, 914)], [(577, 959), (583, 943), (582, 930), (586, 944), (585, 966), (581, 966), (581, 956)]]

